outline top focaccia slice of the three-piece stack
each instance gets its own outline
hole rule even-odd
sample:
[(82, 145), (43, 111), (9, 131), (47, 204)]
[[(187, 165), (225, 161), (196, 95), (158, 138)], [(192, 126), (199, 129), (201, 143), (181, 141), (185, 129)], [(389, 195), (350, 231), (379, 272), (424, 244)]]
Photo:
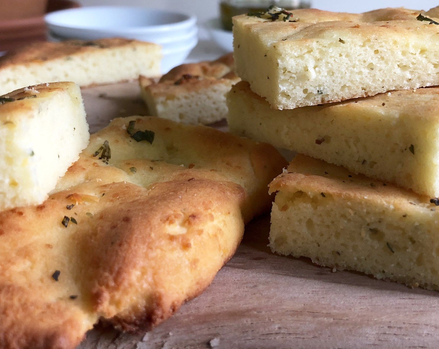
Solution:
[(439, 25), (428, 20), (437, 24), (437, 12), (304, 9), (292, 15), (271, 10), (270, 19), (237, 16), (236, 72), (277, 109), (439, 85)]

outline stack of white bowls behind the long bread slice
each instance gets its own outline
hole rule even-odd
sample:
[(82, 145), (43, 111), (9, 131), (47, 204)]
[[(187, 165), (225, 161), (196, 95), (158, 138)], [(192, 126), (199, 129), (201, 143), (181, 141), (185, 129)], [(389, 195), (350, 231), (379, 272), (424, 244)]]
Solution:
[(158, 43), (163, 73), (182, 64), (198, 42), (194, 15), (147, 7), (81, 7), (51, 12), (45, 21), (52, 41), (122, 37)]

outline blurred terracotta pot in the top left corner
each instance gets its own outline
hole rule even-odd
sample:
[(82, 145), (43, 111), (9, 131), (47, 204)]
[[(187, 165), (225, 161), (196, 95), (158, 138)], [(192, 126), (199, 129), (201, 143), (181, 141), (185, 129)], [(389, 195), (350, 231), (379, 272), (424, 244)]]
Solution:
[[(14, 2), (20, 2), (20, 6), (11, 6), (11, 3)], [(7, 0), (7, 7), (23, 8), (24, 2), (25, 0)], [(31, 0), (30, 2), (39, 3), (40, 1)], [(4, 6), (5, 0), (0, 0), (0, 16), (4, 15), (2, 12), (5, 8)], [(15, 19), (9, 17), (7, 20), (0, 17), (0, 51), (13, 50), (34, 41), (45, 41), (46, 25), (44, 24), (43, 15), (47, 12), (73, 7), (80, 7), (80, 5), (72, 0), (49, 0), (47, 4), (44, 4), (44, 9), (39, 15)], [(40, 9), (34, 7), (32, 11), (40, 11)], [(32, 11), (27, 11), (26, 9), (26, 11), (22, 11), (22, 14), (29, 14)]]

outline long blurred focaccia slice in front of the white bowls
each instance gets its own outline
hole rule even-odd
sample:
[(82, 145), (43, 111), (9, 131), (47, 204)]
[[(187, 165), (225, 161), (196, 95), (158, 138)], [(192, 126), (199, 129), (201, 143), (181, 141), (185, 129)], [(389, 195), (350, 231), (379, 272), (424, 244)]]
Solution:
[(159, 45), (122, 38), (32, 43), (0, 57), (0, 94), (56, 81), (90, 86), (160, 76), (161, 59)]

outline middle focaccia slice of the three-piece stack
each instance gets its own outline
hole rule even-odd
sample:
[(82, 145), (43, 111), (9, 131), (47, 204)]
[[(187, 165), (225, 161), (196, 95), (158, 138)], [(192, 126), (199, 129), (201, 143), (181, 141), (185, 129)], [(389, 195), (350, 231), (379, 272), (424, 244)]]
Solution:
[(248, 83), (227, 96), (232, 133), (439, 196), (439, 88), (277, 110)]

